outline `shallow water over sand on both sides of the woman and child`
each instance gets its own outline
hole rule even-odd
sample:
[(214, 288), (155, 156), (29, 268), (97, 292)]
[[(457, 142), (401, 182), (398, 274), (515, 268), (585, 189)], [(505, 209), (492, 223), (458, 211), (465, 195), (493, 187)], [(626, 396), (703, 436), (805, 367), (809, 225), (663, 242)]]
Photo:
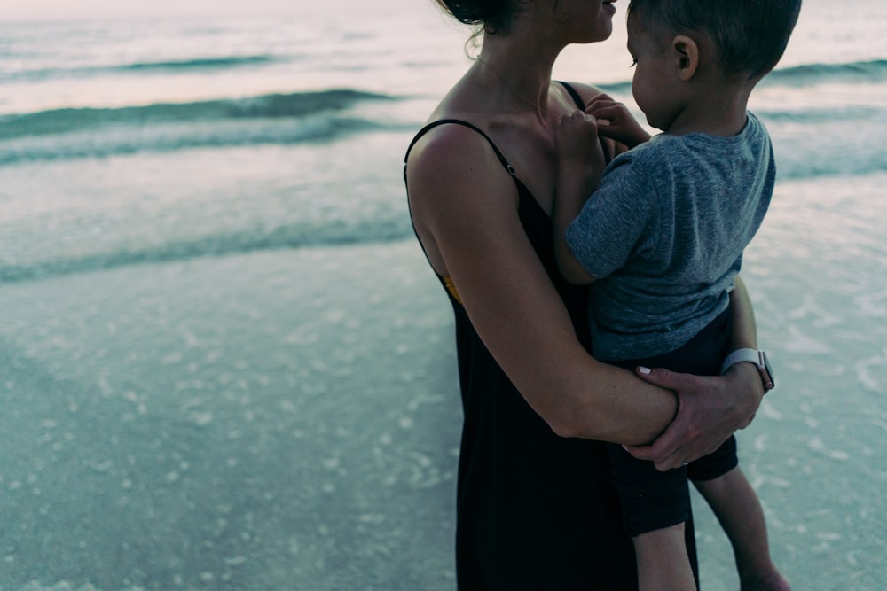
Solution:
[[(863, 212), (871, 181), (783, 191)], [(740, 452), (796, 587), (875, 590), (887, 284), (876, 252), (848, 256), (875, 224), (827, 217), (776, 251), (814, 219), (776, 205), (750, 249), (780, 385)], [(855, 238), (818, 257), (827, 226)], [(414, 241), (57, 276), (0, 306), (0, 589), (453, 587), (451, 311)], [(696, 519), (703, 588), (734, 588), (723, 533)]]

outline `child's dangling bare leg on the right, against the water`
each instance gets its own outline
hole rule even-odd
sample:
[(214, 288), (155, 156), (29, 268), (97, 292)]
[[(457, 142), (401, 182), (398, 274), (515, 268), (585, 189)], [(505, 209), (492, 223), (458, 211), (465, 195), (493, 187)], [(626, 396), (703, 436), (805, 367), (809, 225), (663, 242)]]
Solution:
[(724, 528), (736, 556), (742, 591), (789, 591), (770, 557), (764, 510), (739, 467), (693, 483)]

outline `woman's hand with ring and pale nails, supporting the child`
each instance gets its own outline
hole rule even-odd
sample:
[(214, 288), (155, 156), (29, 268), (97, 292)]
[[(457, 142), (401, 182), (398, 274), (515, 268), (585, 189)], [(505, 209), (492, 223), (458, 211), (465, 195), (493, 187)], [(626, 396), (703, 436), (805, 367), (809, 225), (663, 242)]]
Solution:
[(755, 417), (764, 386), (751, 363), (737, 363), (722, 377), (639, 370), (638, 376), (678, 394), (678, 414), (652, 445), (624, 446), (634, 457), (671, 470), (716, 450)]

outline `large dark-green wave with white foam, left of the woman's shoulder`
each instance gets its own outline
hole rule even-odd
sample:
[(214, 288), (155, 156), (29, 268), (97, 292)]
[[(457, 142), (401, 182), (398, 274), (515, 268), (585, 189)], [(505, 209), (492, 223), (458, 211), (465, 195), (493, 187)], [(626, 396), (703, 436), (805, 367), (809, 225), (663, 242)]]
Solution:
[(392, 97), (352, 89), (183, 104), (57, 109), (0, 116), (0, 165), (169, 152), (200, 147), (297, 144), (398, 124), (351, 107)]

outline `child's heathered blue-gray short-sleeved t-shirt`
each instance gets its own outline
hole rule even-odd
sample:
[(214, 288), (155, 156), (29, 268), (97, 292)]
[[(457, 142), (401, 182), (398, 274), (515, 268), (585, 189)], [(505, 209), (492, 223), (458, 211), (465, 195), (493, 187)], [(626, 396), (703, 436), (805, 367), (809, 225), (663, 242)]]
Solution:
[(614, 362), (683, 346), (729, 305), (776, 167), (752, 113), (737, 136), (662, 134), (620, 154), (566, 232), (598, 277), (593, 354)]

